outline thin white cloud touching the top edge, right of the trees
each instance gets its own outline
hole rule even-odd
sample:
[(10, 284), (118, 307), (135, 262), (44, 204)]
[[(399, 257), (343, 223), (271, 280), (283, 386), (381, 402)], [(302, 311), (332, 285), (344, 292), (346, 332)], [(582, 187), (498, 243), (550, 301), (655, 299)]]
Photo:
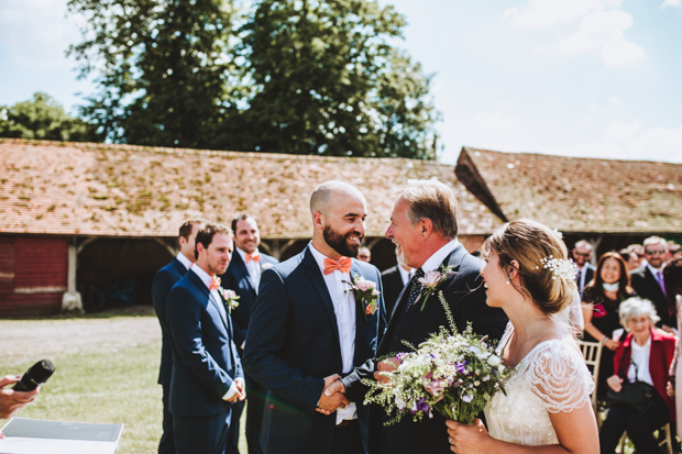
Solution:
[(547, 29), (580, 19), (595, 10), (618, 8), (620, 3), (622, 0), (529, 0), (522, 10), (506, 10), (502, 19), (512, 19), (514, 25), (522, 29)]

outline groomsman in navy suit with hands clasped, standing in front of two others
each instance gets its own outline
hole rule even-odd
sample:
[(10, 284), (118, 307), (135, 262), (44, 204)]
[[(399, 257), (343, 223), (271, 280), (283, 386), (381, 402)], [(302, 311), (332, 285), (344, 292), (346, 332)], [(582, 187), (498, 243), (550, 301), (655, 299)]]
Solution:
[(224, 454), (232, 405), (246, 397), (230, 308), (218, 278), (228, 269), (232, 251), (230, 229), (207, 223), (197, 233), (195, 265), (168, 295), (174, 345), (169, 406), (179, 454)]

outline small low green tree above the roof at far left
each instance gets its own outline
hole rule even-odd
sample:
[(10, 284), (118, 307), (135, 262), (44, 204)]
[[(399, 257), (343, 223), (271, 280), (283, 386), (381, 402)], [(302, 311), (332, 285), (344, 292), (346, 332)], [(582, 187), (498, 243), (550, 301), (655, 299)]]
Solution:
[(41, 92), (34, 93), (32, 101), (0, 106), (0, 137), (73, 142), (98, 139), (91, 124), (68, 115), (57, 101)]

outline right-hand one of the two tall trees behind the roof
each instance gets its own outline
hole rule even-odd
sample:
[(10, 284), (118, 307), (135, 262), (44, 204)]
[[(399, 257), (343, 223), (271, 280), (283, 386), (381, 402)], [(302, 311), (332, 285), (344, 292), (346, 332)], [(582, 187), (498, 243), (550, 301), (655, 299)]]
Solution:
[(373, 0), (262, 0), (241, 29), (241, 150), (436, 158), (430, 77), (391, 42), (404, 18)]

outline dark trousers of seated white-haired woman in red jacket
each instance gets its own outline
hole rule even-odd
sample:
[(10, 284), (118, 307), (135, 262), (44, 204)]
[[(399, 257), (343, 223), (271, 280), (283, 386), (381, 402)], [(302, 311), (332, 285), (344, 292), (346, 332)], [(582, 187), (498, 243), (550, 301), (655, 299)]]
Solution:
[(670, 422), (670, 412), (658, 391), (653, 391), (651, 400), (651, 407), (644, 413), (629, 407), (608, 409), (600, 432), (602, 454), (612, 454), (616, 451), (623, 432), (627, 432), (627, 436), (632, 441), (638, 453), (659, 452), (653, 431)]

